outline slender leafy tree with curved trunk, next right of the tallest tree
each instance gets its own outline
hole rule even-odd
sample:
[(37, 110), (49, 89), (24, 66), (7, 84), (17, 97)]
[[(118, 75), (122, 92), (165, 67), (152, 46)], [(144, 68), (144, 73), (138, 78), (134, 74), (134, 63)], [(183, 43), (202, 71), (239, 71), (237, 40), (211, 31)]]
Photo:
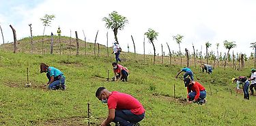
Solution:
[(153, 29), (148, 29), (147, 32), (144, 33), (144, 35), (147, 36), (147, 39), (150, 40), (150, 43), (152, 44), (153, 48), (154, 48), (154, 62), (153, 64), (155, 64), (156, 61), (156, 48), (154, 46), (154, 40), (156, 40), (158, 33), (156, 31), (154, 31)]

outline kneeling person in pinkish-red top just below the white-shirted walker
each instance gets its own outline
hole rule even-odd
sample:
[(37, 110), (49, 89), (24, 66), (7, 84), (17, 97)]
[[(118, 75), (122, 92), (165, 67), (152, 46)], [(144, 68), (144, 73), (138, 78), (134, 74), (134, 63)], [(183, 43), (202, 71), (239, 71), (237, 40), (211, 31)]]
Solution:
[(128, 81), (128, 69), (126, 67), (123, 67), (122, 65), (119, 65), (117, 63), (112, 63), (113, 66), (113, 71), (115, 74), (114, 80), (115, 81), (119, 81), (122, 80), (124, 81)]

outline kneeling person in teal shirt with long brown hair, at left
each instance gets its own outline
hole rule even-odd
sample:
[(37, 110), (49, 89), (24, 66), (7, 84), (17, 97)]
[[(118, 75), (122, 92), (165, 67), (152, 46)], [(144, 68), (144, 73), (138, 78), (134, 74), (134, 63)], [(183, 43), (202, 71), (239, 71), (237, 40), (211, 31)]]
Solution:
[(45, 63), (40, 63), (40, 73), (43, 72), (46, 73), (48, 78), (48, 82), (46, 84), (46, 86), (48, 85), (48, 89), (57, 90), (60, 88), (62, 90), (66, 90), (66, 77), (59, 69), (56, 69), (55, 67), (49, 67)]

